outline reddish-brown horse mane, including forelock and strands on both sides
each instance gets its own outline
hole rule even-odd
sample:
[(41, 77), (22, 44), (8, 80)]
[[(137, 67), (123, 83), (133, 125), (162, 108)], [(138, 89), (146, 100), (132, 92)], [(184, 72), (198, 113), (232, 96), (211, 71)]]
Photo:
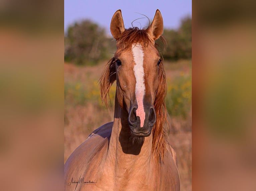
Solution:
[[(118, 37), (116, 40), (117, 45), (121, 46), (122, 50), (128, 49), (135, 42), (140, 42), (145, 47), (147, 47), (149, 43), (155, 44), (154, 41), (149, 38), (146, 28), (139, 29), (138, 27), (125, 29), (125, 31), (121, 33), (120, 37)], [(161, 36), (160, 40), (162, 41), (165, 48), (166, 41), (164, 37)], [(158, 45), (155, 44), (155, 47), (157, 46)], [(116, 81), (116, 66), (114, 61), (115, 58), (113, 57), (106, 64), (100, 78), (101, 99), (103, 102), (105, 102), (107, 107), (108, 101), (110, 101), (109, 90), (112, 84)], [(158, 89), (154, 102), (156, 122), (152, 128), (152, 154), (154, 154), (154, 156), (159, 158), (160, 162), (162, 162), (166, 144), (168, 144), (166, 131), (169, 129), (169, 124), (167, 121), (168, 113), (165, 105), (166, 77), (162, 62), (159, 65), (158, 79)]]

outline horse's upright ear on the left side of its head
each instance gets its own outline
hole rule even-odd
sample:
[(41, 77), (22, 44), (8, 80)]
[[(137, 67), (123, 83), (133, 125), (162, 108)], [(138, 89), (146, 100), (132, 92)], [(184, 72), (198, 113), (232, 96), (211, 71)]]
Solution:
[(124, 21), (122, 17), (122, 12), (121, 10), (117, 10), (112, 19), (111, 19), (111, 24), (110, 24), (110, 31), (113, 37), (118, 40), (120, 37), (120, 34), (124, 32)]

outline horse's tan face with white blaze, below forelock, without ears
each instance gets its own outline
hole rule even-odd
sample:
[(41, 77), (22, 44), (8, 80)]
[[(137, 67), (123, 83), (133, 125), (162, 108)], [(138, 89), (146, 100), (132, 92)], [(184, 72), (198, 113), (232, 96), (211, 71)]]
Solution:
[(129, 113), (128, 122), (135, 136), (149, 136), (156, 120), (154, 109), (158, 88), (158, 61), (153, 45), (146, 48), (133, 43), (131, 48), (115, 55), (117, 99)]

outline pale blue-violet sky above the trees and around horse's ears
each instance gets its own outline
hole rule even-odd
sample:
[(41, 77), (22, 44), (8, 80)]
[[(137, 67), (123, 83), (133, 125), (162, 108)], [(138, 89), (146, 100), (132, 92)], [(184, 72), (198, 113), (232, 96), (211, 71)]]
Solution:
[[(110, 34), (110, 21), (118, 9), (122, 10), (125, 28), (131, 27), (133, 20), (144, 17), (137, 13), (148, 16), (152, 21), (156, 9), (159, 9), (164, 27), (176, 29), (183, 17), (192, 16), (192, 0), (65, 0), (64, 30), (66, 31), (68, 25), (74, 21), (88, 18), (105, 27), (106, 32)], [(148, 25), (148, 20), (139, 19), (133, 25), (144, 27)]]

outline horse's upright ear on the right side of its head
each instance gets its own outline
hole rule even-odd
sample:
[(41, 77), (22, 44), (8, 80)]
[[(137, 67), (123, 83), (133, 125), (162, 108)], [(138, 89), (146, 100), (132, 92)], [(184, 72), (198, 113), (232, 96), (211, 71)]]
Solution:
[(155, 12), (152, 23), (147, 28), (148, 34), (155, 41), (163, 34), (163, 18), (160, 11)]

